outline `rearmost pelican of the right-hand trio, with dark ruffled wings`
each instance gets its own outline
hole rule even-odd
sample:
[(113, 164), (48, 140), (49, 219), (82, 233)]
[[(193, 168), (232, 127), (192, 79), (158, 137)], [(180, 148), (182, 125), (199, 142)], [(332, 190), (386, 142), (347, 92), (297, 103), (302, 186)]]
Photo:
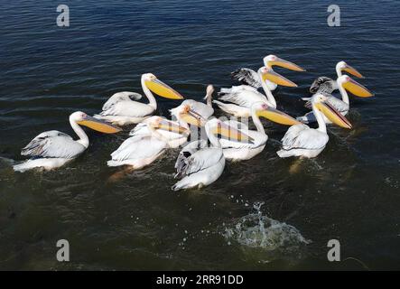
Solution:
[[(338, 79), (343, 75), (343, 71), (349, 72), (351, 75), (360, 79), (364, 78), (362, 74), (358, 72), (358, 70), (349, 66), (349, 64), (347, 64), (345, 61), (339, 61), (336, 64), (336, 75), (338, 76)], [(338, 79), (333, 80), (325, 76), (321, 76), (318, 79), (315, 79), (314, 82), (312, 82), (310, 92), (312, 94), (317, 92), (332, 93), (333, 91), (339, 89)], [(308, 98), (305, 99), (308, 100)]]

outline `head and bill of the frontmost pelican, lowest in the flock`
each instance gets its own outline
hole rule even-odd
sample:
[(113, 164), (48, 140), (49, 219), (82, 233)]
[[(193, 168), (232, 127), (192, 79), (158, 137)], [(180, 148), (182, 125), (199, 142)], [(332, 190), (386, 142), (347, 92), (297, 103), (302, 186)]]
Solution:
[(244, 144), (253, 144), (254, 139), (244, 134), (243, 132), (237, 130), (235, 127), (228, 126), (226, 123), (218, 118), (211, 118), (206, 123), (207, 135), (220, 135), (223, 138), (227, 138), (231, 141), (236, 141)]

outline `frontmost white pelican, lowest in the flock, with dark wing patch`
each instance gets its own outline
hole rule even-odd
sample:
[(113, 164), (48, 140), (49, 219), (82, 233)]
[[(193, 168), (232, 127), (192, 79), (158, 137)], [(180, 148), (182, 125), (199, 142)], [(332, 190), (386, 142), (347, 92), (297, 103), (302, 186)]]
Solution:
[(228, 126), (217, 118), (210, 119), (205, 125), (210, 147), (204, 147), (204, 143), (194, 142), (185, 146), (175, 163), (177, 174), (181, 181), (172, 186), (173, 191), (189, 189), (193, 187), (207, 186), (219, 179), (224, 171), (225, 157), (217, 135), (222, 135), (237, 142), (252, 142), (251, 137), (244, 135), (237, 129)]

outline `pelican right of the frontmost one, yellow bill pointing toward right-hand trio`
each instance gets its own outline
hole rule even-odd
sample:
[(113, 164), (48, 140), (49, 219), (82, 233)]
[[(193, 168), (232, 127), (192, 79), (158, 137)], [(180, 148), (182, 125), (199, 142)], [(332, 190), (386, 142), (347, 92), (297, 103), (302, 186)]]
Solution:
[(232, 161), (249, 160), (264, 150), (265, 143), (268, 140), (268, 135), (265, 134), (264, 126), (259, 117), (268, 118), (285, 126), (300, 124), (293, 117), (290, 117), (272, 107), (268, 107), (264, 102), (256, 102), (253, 104), (251, 107), (251, 116), (256, 126), (256, 130), (249, 130), (245, 124), (238, 123), (235, 120), (224, 122), (227, 125), (237, 127), (240, 132), (249, 135), (253, 139), (252, 143), (247, 144), (237, 143), (230, 139), (221, 139), (220, 144), (222, 145), (226, 159)]

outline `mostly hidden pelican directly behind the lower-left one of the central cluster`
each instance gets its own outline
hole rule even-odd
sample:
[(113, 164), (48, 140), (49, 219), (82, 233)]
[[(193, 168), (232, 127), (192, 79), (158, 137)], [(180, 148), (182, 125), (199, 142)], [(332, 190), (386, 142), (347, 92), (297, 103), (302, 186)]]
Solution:
[[(204, 124), (205, 120), (197, 112), (191, 109), (190, 105), (179, 106), (172, 108), (173, 117), (176, 117), (177, 121), (171, 121), (165, 117), (159, 117), (159, 121), (163, 122), (164, 126), (154, 127), (157, 133), (163, 135), (164, 140), (167, 140), (171, 148), (176, 148), (181, 144), (186, 143), (188, 136), (190, 135), (190, 126), (201, 126)], [(155, 117), (153, 117), (155, 119)], [(186, 130), (169, 130), (165, 129), (169, 126), (182, 126)], [(130, 136), (136, 135), (152, 135), (153, 132), (149, 128), (148, 123), (144, 120), (140, 124), (137, 124), (135, 128), (129, 133)]]

